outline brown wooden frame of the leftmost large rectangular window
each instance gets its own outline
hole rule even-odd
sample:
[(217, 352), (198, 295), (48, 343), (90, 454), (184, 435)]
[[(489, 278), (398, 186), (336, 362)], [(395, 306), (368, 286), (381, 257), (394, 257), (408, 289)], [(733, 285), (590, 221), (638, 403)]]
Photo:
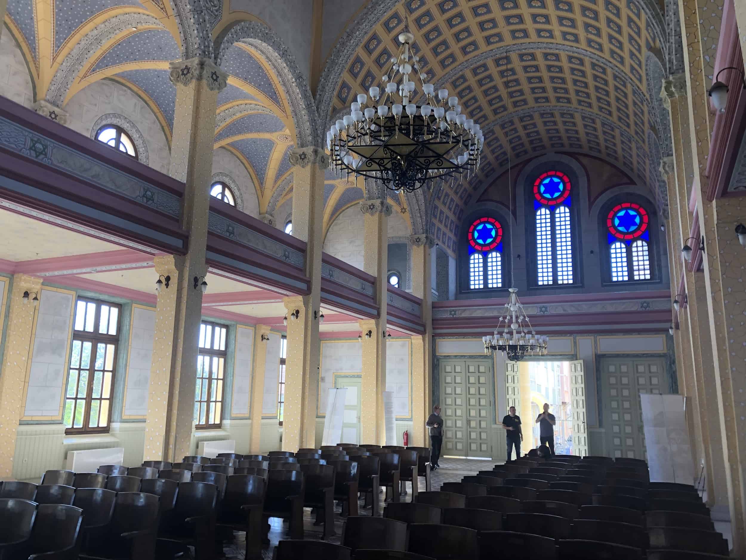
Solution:
[[(85, 330), (78, 331), (75, 329), (75, 318), (78, 314), (78, 302), (86, 302), (86, 303), (93, 303), (95, 305), (95, 314), (93, 317), (93, 332), (87, 332)], [(98, 332), (99, 325), (101, 322), (101, 305), (107, 305), (109, 308), (116, 308), (117, 311), (117, 317), (116, 317), (116, 335), (109, 335), (109, 334), (103, 334)], [(112, 404), (114, 400), (114, 385), (116, 382), (116, 359), (119, 355), (119, 335), (122, 332), (122, 305), (119, 303), (113, 303), (113, 302), (107, 302), (102, 299), (95, 299), (95, 298), (89, 298), (89, 297), (76, 297), (75, 298), (75, 311), (72, 315), (72, 338), (70, 340), (70, 349), (69, 349), (69, 356), (67, 358), (65, 373), (66, 373), (66, 383), (65, 383), (65, 392), (63, 393), (63, 401), (66, 403), (68, 400), (73, 400), (74, 404), (72, 406), (72, 424), (73, 426), (67, 427), (65, 426), (65, 435), (81, 435), (81, 434), (107, 434), (110, 432), (111, 428), (111, 413), (112, 413)], [(72, 367), (72, 347), (75, 344), (75, 341), (81, 342), (81, 360), (82, 360), (82, 347), (83, 344), (86, 342), (91, 343), (91, 355), (90, 355), (90, 361), (89, 361), (89, 367), (88, 367), (88, 379), (87, 379), (87, 388), (86, 388), (86, 396), (85, 396), (85, 405), (83, 408), (83, 426), (80, 428), (75, 428), (75, 409), (78, 406), (78, 400), (81, 400), (82, 397), (75, 396), (75, 397), (69, 397), (67, 396), (67, 393), (69, 391), (69, 384), (70, 384), (70, 370), (76, 369), (78, 370), (78, 376), (76, 376), (76, 385), (80, 382), (80, 373), (83, 371), (81, 367), (73, 368)], [(111, 382), (110, 382), (110, 392), (109, 392), (109, 411), (108, 411), (108, 417), (107, 417), (107, 423), (106, 426), (100, 426), (101, 424), (101, 408), (99, 408), (99, 420), (98, 424), (99, 426), (96, 426), (95, 428), (91, 428), (90, 426), (87, 426), (87, 424), (90, 422), (90, 409), (91, 404), (93, 401), (93, 384), (95, 382), (95, 355), (98, 350), (98, 344), (113, 344), (113, 359), (112, 359), (112, 369), (111, 369)], [(104, 354), (104, 361), (105, 361), (105, 354)], [(80, 365), (80, 364), (79, 364)], [(102, 368), (102, 376), (105, 379), (105, 373), (107, 372), (105, 368)], [(103, 398), (103, 385), (104, 385), (104, 379), (101, 380), (101, 398), (98, 398), (98, 401), (101, 402), (104, 400)], [(79, 391), (79, 386), (78, 386)], [(100, 405), (99, 405), (100, 407)], [(64, 423), (64, 410), (66, 408), (66, 404), (63, 405), (63, 423)]]

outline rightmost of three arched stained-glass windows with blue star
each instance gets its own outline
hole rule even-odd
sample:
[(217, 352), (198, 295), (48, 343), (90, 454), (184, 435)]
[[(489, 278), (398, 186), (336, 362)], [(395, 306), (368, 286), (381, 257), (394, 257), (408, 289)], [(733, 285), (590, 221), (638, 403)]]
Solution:
[(622, 202), (609, 211), (606, 236), (612, 282), (652, 278), (648, 225), (648, 211), (636, 202)]

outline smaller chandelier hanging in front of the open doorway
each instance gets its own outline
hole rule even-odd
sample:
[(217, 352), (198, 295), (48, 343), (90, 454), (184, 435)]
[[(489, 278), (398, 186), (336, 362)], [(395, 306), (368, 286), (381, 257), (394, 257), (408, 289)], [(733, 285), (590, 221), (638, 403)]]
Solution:
[[(521, 361), (527, 354), (546, 355), (548, 337), (536, 335), (533, 331), (523, 305), (518, 300), (518, 288), (511, 287), (508, 291), (510, 296), (505, 304), (505, 315), (498, 320), (495, 335), (482, 337), (484, 353), (494, 355), (495, 352), (503, 352), (510, 361)], [(502, 333), (501, 326), (504, 329)], [(513, 330), (513, 334), (508, 329)]]

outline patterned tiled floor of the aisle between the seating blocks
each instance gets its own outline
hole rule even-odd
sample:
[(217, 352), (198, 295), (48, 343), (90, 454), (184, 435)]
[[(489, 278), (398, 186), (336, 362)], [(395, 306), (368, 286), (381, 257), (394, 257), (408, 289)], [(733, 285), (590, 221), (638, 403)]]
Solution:
[[(433, 490), (438, 490), (443, 482), (460, 482), (461, 478), (466, 475), (476, 474), (479, 470), (492, 470), (492, 466), (495, 464), (494, 461), (479, 461), (476, 459), (449, 459), (441, 458), (441, 468), (437, 469), (432, 473), (430, 483)], [(407, 485), (409, 486), (409, 485)], [(424, 479), (420, 479), (419, 491), (424, 491)], [(381, 511), (383, 511), (383, 494), (380, 494)], [(409, 491), (406, 495), (401, 497), (402, 501), (410, 502), (412, 500), (412, 493)], [(363, 501), (360, 501), (360, 514), (370, 515), (370, 509), (363, 509)], [(311, 516), (311, 510), (304, 510), (304, 538), (307, 539), (318, 539), (321, 540), (323, 533), (323, 526), (313, 526), (313, 517)], [(287, 537), (287, 523), (283, 523), (280, 519), (271, 518), (270, 520), (271, 529), (269, 531), (269, 547), (266, 547), (263, 551), (263, 557), (266, 560), (272, 559), (272, 552), (275, 550), (278, 541)], [(339, 517), (339, 508), (336, 508), (334, 529), (336, 530), (336, 537), (330, 539), (330, 542), (339, 544), (339, 540), (342, 537), (342, 529), (344, 527), (344, 519)], [(236, 533), (236, 541), (227, 544), (225, 546), (225, 556), (228, 559), (240, 559), (244, 558), (245, 544), (243, 533)]]

